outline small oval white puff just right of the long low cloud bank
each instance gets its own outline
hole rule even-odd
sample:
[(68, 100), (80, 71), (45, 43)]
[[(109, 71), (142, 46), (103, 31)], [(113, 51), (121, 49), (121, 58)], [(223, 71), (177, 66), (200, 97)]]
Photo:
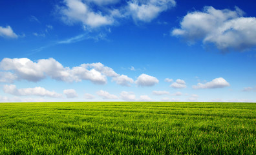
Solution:
[(135, 83), (138, 85), (138, 86), (142, 86), (142, 87), (146, 87), (146, 86), (153, 86), (155, 85), (156, 83), (158, 83), (159, 80), (156, 79), (155, 77), (153, 76), (149, 76), (147, 74), (141, 74), (137, 80), (135, 81)]

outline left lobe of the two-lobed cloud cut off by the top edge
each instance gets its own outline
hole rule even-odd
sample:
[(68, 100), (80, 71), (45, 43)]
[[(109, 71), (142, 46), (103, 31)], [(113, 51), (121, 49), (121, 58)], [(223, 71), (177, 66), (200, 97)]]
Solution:
[[(94, 1), (95, 2), (95, 1)], [(100, 3), (100, 1), (98, 1)], [(65, 7), (61, 7), (59, 12), (66, 23), (83, 23), (83, 25), (98, 27), (112, 25), (114, 19), (109, 13), (103, 15), (102, 12), (94, 12), (89, 3), (81, 0), (65, 0)]]

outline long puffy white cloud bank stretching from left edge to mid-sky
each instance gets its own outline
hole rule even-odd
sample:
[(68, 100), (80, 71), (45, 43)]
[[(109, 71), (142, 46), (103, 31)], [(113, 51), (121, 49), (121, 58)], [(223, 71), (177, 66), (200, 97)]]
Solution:
[[(133, 83), (133, 79), (125, 75), (120, 76), (112, 68), (106, 67), (102, 63), (87, 63), (69, 68), (63, 67), (53, 58), (39, 59), (36, 62), (28, 58), (5, 58), (0, 62), (0, 69), (14, 72), (17, 76), (16, 79), (34, 82), (49, 76), (52, 79), (65, 82), (89, 80), (92, 83), (103, 85), (107, 83), (107, 77), (112, 77), (119, 85)], [(3, 76), (5, 75), (0, 76), (0, 78)]]

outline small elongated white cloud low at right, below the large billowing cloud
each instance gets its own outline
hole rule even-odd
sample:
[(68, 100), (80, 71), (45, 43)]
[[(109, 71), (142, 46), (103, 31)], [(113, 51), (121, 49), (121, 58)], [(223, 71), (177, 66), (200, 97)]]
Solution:
[(205, 84), (197, 83), (197, 85), (193, 85), (193, 88), (224, 88), (228, 86), (229, 83), (224, 78), (216, 78)]

